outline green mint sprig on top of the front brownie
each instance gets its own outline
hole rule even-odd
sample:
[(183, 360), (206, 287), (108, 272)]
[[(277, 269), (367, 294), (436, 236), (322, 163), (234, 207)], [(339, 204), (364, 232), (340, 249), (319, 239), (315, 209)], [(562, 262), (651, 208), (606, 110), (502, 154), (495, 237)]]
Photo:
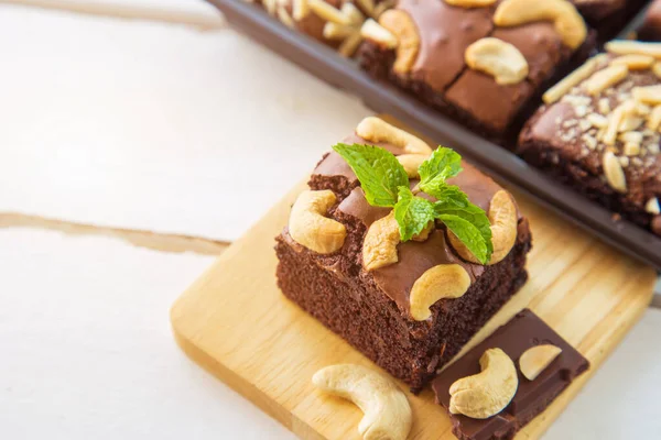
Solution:
[[(430, 222), (441, 221), (480, 263), (489, 261), (494, 246), (486, 212), (473, 205), (459, 187), (446, 182), (462, 172), (458, 153), (438, 146), (418, 168), (420, 183), (411, 190), (407, 172), (389, 151), (343, 143), (333, 150), (356, 173), (370, 205), (394, 209), (402, 241), (420, 234)], [(416, 196), (415, 190), (429, 194), (436, 201)]]

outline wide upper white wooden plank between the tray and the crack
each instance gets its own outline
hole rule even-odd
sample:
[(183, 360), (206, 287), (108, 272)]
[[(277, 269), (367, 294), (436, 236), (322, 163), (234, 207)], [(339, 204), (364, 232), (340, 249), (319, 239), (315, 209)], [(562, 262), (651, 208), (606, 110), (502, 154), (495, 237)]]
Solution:
[(0, 7), (0, 211), (236, 239), (368, 110), (231, 30)]

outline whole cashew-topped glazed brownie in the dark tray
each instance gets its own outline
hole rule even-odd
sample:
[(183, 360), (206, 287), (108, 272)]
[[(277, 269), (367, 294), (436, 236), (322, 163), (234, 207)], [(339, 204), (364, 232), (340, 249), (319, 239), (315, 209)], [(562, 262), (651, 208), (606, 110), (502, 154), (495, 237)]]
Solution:
[[(541, 4), (563, 14), (562, 32)], [(595, 45), (567, 0), (502, 0), (487, 7), (399, 0), (379, 25), (378, 33), (364, 32), (358, 55), (364, 69), (498, 143), (516, 138), (541, 91)]]

